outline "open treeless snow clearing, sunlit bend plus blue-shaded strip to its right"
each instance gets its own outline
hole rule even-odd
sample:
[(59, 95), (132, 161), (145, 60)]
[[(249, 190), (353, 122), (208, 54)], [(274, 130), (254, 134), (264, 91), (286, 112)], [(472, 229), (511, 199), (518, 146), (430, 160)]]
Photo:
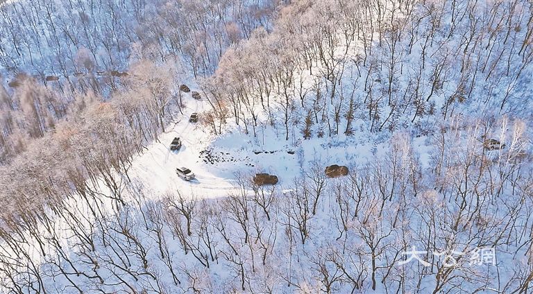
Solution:
[[(387, 145), (370, 134), (312, 138), (285, 141), (285, 134), (271, 127), (260, 127), (257, 137), (233, 132), (214, 136), (201, 123), (190, 123), (193, 112), (208, 110), (208, 101), (196, 101), (187, 96), (187, 108), (181, 119), (167, 127), (158, 141), (137, 155), (128, 171), (130, 178), (142, 183), (147, 195), (164, 196), (178, 191), (194, 198), (219, 198), (237, 191), (236, 173), (248, 178), (254, 173), (278, 175), (280, 184), (291, 184), (311, 164), (320, 166), (366, 164), (376, 155), (384, 155)], [(361, 122), (364, 123), (364, 122)], [(297, 132), (297, 130), (296, 130)], [(180, 150), (171, 151), (174, 137), (183, 142)], [(298, 137), (298, 135), (296, 135)], [(426, 158), (424, 137), (414, 141), (421, 157)], [(427, 162), (427, 160), (425, 160)], [(195, 175), (185, 181), (176, 175), (176, 168), (185, 166)]]

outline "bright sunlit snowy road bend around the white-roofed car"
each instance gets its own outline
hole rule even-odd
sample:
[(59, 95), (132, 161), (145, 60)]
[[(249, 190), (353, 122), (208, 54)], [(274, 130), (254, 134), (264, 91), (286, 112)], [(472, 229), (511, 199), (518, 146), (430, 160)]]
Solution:
[[(133, 161), (130, 177), (142, 183), (145, 193), (158, 198), (166, 193), (182, 193), (188, 197), (214, 198), (226, 196), (232, 190), (231, 174), (224, 174), (201, 159), (201, 150), (212, 141), (208, 130), (203, 130), (201, 123), (189, 123), (193, 112), (201, 113), (209, 107), (208, 101), (194, 100), (190, 94), (184, 94), (187, 107), (181, 120), (169, 126), (167, 132), (160, 135), (148, 150)], [(200, 114), (201, 115), (201, 114)], [(180, 137), (182, 147), (171, 151), (169, 146), (174, 137)], [(178, 178), (176, 168), (185, 166), (195, 173), (194, 180), (185, 181)]]

